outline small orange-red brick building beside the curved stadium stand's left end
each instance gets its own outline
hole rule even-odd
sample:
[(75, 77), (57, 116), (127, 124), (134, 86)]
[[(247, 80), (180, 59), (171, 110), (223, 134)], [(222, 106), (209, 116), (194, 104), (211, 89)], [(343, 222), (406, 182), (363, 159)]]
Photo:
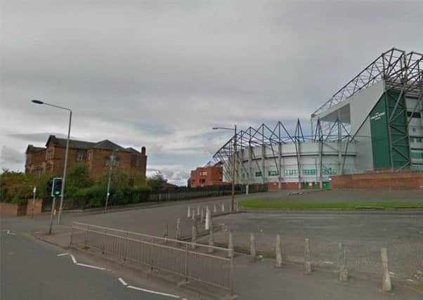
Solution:
[(223, 182), (223, 167), (221, 165), (198, 167), (197, 169), (191, 171), (191, 188), (226, 184), (227, 183)]

